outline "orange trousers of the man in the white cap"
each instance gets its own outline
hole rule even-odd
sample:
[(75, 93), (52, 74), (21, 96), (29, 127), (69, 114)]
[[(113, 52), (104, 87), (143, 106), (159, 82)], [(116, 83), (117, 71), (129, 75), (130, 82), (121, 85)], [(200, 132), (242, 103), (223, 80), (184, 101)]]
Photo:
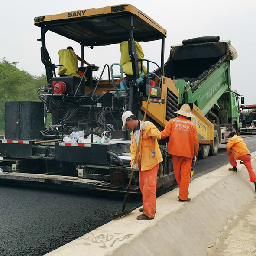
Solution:
[(142, 194), (143, 214), (154, 218), (156, 214), (156, 177), (159, 164), (150, 170), (139, 171), (139, 188)]

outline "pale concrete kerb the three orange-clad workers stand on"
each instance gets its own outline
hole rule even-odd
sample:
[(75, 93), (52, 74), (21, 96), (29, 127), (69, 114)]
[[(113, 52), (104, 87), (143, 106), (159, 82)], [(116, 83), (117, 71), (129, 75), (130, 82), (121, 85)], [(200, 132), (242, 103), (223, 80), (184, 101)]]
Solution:
[[(252, 159), (256, 170), (256, 157)], [(224, 226), (255, 198), (247, 169), (225, 165), (191, 182), (191, 202), (178, 202), (178, 188), (157, 198), (155, 219), (133, 213), (113, 220), (45, 256), (203, 256)]]

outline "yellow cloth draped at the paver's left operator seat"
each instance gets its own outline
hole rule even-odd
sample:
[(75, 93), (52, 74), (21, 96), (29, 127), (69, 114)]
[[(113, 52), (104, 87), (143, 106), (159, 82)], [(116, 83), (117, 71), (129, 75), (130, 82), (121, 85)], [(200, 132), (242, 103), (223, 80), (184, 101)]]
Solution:
[(75, 76), (81, 78), (78, 74), (78, 58), (71, 49), (63, 49), (58, 51), (59, 67), (58, 75)]

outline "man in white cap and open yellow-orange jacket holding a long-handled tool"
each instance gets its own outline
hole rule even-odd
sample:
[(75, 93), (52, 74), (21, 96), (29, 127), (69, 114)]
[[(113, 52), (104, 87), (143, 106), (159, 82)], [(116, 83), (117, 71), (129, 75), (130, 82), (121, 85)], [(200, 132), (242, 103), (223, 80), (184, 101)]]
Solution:
[[(150, 220), (156, 213), (156, 178), (159, 163), (163, 161), (158, 145), (161, 138), (160, 131), (151, 122), (139, 121), (131, 111), (122, 115), (123, 127), (132, 130), (131, 135), (131, 167), (136, 170), (139, 167), (139, 188), (142, 193), (143, 208), (139, 211), (143, 214), (137, 217), (138, 220)], [(139, 154), (135, 160), (136, 150), (139, 143), (139, 134), (142, 132), (142, 139), (139, 145)]]

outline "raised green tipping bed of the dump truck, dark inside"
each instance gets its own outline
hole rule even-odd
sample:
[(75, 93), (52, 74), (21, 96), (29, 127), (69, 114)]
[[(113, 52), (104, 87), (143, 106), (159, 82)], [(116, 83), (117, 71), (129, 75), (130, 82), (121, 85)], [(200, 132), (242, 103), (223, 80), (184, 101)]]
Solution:
[(236, 57), (230, 40), (174, 45), (165, 76), (175, 77), (180, 104), (195, 104), (206, 115), (230, 87), (229, 60)]

